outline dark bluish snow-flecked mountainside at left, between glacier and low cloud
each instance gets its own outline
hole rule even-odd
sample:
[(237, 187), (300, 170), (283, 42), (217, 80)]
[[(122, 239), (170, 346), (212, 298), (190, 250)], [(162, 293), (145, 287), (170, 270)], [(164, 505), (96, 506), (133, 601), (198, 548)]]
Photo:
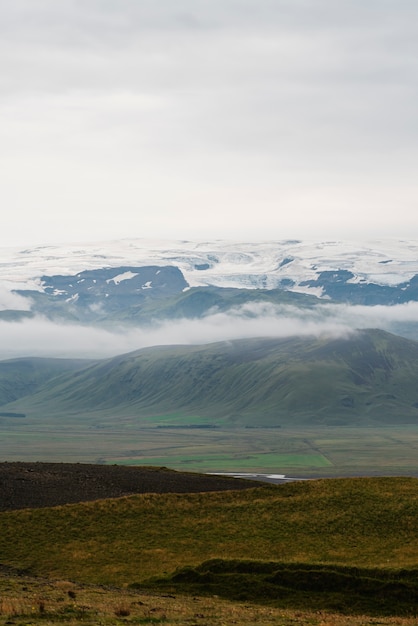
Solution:
[[(312, 307), (320, 301), (312, 295), (284, 289), (237, 289), (192, 287), (174, 267), (89, 270), (77, 276), (43, 276), (47, 293), (19, 291), (31, 300), (31, 313), (7, 311), (6, 319), (19, 319), (34, 313), (49, 319), (94, 323), (152, 325), (156, 320), (199, 319), (209, 312), (228, 311), (251, 303), (271, 303)], [(133, 271), (134, 280), (114, 283), (110, 276)], [(148, 276), (147, 276), (148, 274)], [(152, 289), (142, 285), (152, 279)], [(159, 280), (156, 280), (159, 279)], [(93, 282), (94, 281), (94, 282)], [(159, 285), (157, 284), (159, 283)], [(111, 293), (109, 293), (109, 291)], [(81, 292), (81, 293), (80, 293)], [(75, 294), (78, 298), (70, 300)], [(70, 300), (70, 301), (69, 301)], [(92, 304), (100, 306), (92, 307)], [(0, 318), (2, 312), (0, 312)]]

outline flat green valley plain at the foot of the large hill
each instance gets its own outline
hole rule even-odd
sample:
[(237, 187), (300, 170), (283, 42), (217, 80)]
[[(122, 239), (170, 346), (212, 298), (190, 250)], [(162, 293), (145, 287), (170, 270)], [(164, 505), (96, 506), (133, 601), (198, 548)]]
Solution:
[(418, 427), (36, 428), (0, 430), (1, 461), (164, 465), (296, 477), (418, 475)]

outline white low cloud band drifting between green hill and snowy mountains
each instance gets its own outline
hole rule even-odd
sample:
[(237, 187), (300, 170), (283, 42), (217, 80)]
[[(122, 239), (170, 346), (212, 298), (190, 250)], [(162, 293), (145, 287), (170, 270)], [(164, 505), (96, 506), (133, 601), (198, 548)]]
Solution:
[(176, 320), (153, 328), (58, 324), (43, 318), (0, 322), (0, 358), (23, 356), (106, 358), (140, 348), (203, 344), (245, 337), (349, 336), (358, 328), (400, 332), (416, 324), (418, 303), (396, 306), (319, 305), (313, 309), (251, 303), (201, 320)]

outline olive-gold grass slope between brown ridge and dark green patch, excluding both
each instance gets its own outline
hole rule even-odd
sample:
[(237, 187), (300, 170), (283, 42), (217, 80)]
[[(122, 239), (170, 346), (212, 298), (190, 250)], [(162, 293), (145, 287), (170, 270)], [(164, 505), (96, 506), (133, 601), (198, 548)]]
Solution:
[(212, 558), (415, 567), (417, 487), (412, 478), (332, 479), (4, 512), (1, 560), (115, 584)]

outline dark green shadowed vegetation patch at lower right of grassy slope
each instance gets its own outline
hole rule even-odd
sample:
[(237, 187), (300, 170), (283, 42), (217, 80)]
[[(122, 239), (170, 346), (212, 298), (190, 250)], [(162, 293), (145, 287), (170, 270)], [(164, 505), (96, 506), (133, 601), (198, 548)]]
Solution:
[(139, 588), (344, 614), (418, 614), (418, 570), (215, 559)]

